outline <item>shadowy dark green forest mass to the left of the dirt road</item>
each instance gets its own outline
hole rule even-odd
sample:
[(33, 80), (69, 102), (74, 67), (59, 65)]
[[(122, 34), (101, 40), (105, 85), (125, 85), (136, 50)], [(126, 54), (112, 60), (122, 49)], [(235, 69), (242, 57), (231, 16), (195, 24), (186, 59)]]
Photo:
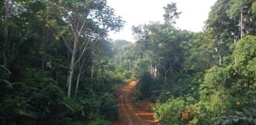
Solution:
[[(0, 124), (109, 124), (118, 118), (112, 85), (130, 74), (106, 63), (113, 53), (108, 31), (123, 25), (106, 0), (1, 1), (0, 8)], [(84, 28), (77, 29), (81, 46), (75, 51), (81, 61), (73, 82), (80, 84), (68, 98), (72, 26)]]

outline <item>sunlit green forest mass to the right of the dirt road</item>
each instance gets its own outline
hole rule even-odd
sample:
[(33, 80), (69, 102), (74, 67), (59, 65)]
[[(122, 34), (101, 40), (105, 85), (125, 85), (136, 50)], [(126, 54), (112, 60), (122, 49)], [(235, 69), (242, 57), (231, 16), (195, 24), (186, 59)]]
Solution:
[[(217, 1), (206, 30), (198, 34), (172, 23), (133, 28), (141, 53), (135, 66), (138, 98), (159, 100), (154, 109), (157, 118), (168, 124), (253, 124), (252, 110), (242, 111), (251, 114), (236, 110), (255, 109), (254, 4)], [(177, 12), (175, 6), (166, 10)], [(179, 115), (186, 112), (193, 115), (183, 122)]]

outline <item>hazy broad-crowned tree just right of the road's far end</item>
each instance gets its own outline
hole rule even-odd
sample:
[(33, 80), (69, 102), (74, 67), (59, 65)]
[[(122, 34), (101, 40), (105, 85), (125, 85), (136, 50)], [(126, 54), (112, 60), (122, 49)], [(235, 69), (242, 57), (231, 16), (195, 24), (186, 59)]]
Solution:
[(141, 53), (144, 58), (147, 57), (150, 60), (150, 67), (154, 67), (152, 74), (160, 72), (167, 83), (167, 75), (171, 71), (181, 70), (182, 55), (185, 54), (184, 49), (192, 34), (176, 29), (168, 23), (159, 22), (144, 25), (140, 30), (142, 32), (137, 33), (141, 35), (141, 39), (137, 44)]

